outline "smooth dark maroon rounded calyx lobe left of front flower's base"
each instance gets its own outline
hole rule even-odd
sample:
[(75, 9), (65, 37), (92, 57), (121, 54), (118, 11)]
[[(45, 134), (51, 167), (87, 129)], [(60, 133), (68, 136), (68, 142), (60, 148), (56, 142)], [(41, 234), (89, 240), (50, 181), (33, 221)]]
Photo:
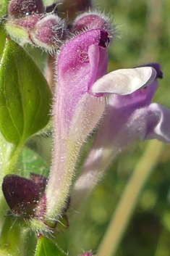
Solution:
[(37, 183), (27, 178), (9, 174), (4, 177), (2, 191), (14, 215), (29, 217), (35, 214), (35, 207), (40, 199)]

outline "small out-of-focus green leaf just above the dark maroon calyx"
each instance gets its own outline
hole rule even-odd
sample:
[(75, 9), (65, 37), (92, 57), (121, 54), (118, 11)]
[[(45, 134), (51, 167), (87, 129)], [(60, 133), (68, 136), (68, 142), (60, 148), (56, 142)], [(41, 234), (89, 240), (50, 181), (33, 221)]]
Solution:
[(30, 172), (48, 177), (49, 170), (42, 158), (31, 149), (24, 147), (18, 157), (19, 175), (30, 178)]

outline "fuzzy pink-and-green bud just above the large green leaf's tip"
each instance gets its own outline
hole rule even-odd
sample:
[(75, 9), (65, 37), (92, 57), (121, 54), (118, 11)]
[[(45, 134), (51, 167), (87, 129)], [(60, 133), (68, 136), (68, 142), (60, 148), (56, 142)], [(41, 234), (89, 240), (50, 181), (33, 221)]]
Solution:
[(55, 14), (9, 17), (7, 32), (20, 44), (33, 44), (53, 53), (67, 36), (65, 21)]

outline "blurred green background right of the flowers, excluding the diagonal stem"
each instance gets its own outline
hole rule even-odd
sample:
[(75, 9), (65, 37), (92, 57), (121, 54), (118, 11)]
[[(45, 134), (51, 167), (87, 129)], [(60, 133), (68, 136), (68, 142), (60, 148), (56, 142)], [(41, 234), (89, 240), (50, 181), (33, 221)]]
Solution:
[[(159, 80), (153, 102), (170, 109), (170, 1), (98, 0), (95, 6), (108, 14), (116, 26), (108, 71), (158, 62), (163, 80)], [(41, 50), (29, 46), (27, 49), (43, 70), (44, 62), (42, 65), (39, 59)], [(75, 212), (77, 217), (70, 220), (69, 229), (59, 232), (56, 241), (70, 256), (90, 249), (95, 254), (124, 187), (147, 146), (148, 141), (137, 141), (116, 157), (82, 212)], [(30, 248), (28, 255), (29, 251)], [(170, 146), (163, 149), (116, 253), (116, 256), (143, 255), (170, 255)]]

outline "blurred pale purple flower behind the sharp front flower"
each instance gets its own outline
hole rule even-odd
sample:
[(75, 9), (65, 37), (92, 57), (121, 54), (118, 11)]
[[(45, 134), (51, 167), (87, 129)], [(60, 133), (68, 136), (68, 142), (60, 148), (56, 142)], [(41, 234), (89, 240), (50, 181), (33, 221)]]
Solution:
[(103, 120), (98, 127), (93, 146), (84, 168), (75, 182), (73, 205), (87, 197), (111, 160), (137, 139), (158, 139), (170, 143), (170, 111), (152, 103), (153, 94), (162, 78), (158, 64), (150, 64), (157, 71), (150, 85), (132, 94), (109, 98)]

